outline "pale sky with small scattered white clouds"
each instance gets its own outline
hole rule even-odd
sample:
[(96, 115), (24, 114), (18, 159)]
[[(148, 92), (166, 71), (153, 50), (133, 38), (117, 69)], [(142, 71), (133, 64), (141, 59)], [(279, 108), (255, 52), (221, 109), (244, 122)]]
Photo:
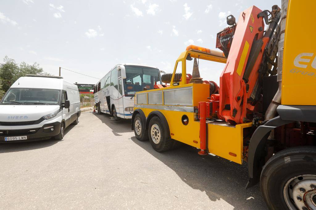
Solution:
[[(253, 4), (270, 10), (281, 0), (2, 0), (0, 59), (8, 55), (17, 62), (38, 62), (55, 75), (61, 66), (101, 78), (126, 62), (172, 72), (186, 46), (215, 49), (226, 16), (238, 20)], [(200, 61), (201, 77), (207, 80), (219, 82), (223, 68)], [(63, 69), (62, 76), (73, 83), (98, 81)]]

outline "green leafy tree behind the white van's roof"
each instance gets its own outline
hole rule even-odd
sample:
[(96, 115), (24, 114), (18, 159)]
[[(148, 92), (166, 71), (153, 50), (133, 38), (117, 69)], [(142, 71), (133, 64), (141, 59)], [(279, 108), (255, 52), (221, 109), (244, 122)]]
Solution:
[(51, 75), (46, 73), (36, 62), (33, 65), (30, 65), (23, 61), (18, 65), (14, 59), (5, 56), (3, 63), (0, 64), (0, 83), (2, 83), (0, 91), (2, 90), (3, 92), (6, 92), (13, 82), (19, 77), (24, 77), (27, 74)]

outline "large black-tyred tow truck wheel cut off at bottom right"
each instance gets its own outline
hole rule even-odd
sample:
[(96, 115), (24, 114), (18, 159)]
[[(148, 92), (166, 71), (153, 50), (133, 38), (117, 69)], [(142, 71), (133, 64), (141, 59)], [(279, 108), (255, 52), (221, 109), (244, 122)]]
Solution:
[(269, 209), (316, 209), (316, 147), (276, 153), (262, 169), (260, 188)]

